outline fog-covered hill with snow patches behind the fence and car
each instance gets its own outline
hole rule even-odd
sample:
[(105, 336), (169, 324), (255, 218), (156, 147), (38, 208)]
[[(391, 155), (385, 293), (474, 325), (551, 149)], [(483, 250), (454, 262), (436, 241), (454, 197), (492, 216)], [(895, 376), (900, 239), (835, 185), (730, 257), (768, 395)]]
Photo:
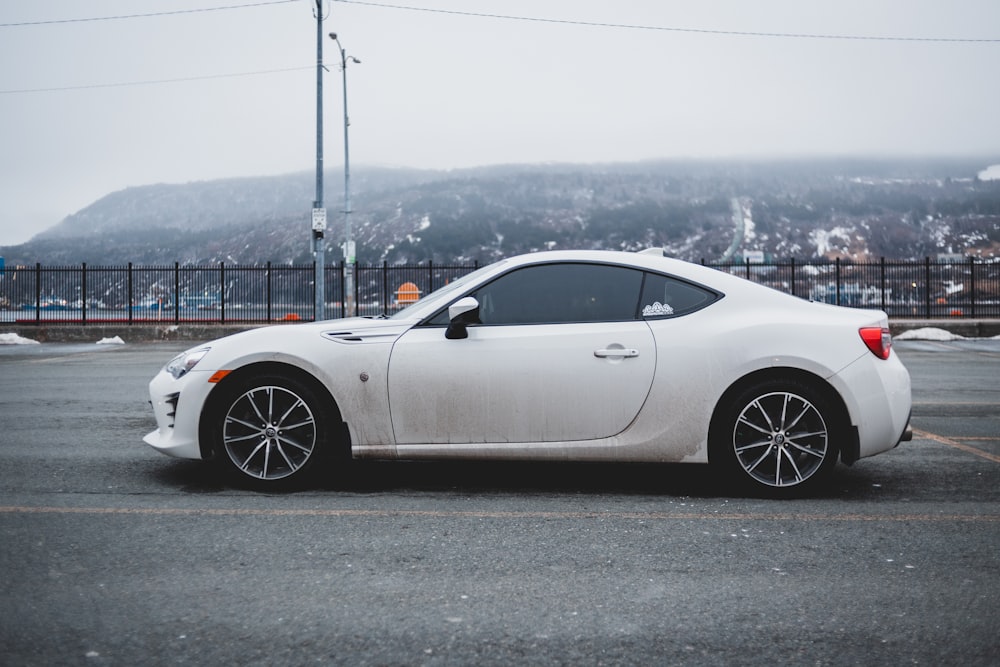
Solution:
[[(1000, 259), (1000, 159), (646, 162), (351, 173), (358, 261), (487, 262), (548, 248), (662, 246), (682, 259)], [(315, 176), (111, 193), (8, 264), (308, 263)], [(328, 262), (343, 172), (325, 177)]]

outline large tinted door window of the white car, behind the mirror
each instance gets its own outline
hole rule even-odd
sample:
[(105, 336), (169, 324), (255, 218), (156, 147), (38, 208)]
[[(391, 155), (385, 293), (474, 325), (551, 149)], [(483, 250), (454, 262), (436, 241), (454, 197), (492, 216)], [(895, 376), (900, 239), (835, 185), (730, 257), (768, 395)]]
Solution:
[(636, 319), (642, 272), (603, 264), (543, 264), (504, 274), (475, 292), (491, 324)]

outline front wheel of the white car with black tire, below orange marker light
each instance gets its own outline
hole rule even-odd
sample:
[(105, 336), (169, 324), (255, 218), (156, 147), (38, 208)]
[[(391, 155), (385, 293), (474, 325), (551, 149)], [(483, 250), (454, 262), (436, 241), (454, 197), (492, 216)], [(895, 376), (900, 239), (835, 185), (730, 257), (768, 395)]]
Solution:
[(257, 490), (301, 488), (328, 459), (331, 420), (307, 384), (282, 375), (250, 377), (215, 403), (215, 458), (236, 484)]

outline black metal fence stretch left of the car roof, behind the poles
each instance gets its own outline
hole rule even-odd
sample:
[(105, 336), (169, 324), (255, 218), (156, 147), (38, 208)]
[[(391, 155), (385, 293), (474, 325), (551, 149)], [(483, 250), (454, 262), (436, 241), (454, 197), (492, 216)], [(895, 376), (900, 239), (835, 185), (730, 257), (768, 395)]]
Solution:
[[(358, 315), (395, 312), (477, 265), (356, 265)], [(324, 271), (328, 317), (345, 314), (343, 263)], [(316, 269), (300, 266), (17, 266), (0, 273), (0, 322), (264, 323), (313, 320)]]

